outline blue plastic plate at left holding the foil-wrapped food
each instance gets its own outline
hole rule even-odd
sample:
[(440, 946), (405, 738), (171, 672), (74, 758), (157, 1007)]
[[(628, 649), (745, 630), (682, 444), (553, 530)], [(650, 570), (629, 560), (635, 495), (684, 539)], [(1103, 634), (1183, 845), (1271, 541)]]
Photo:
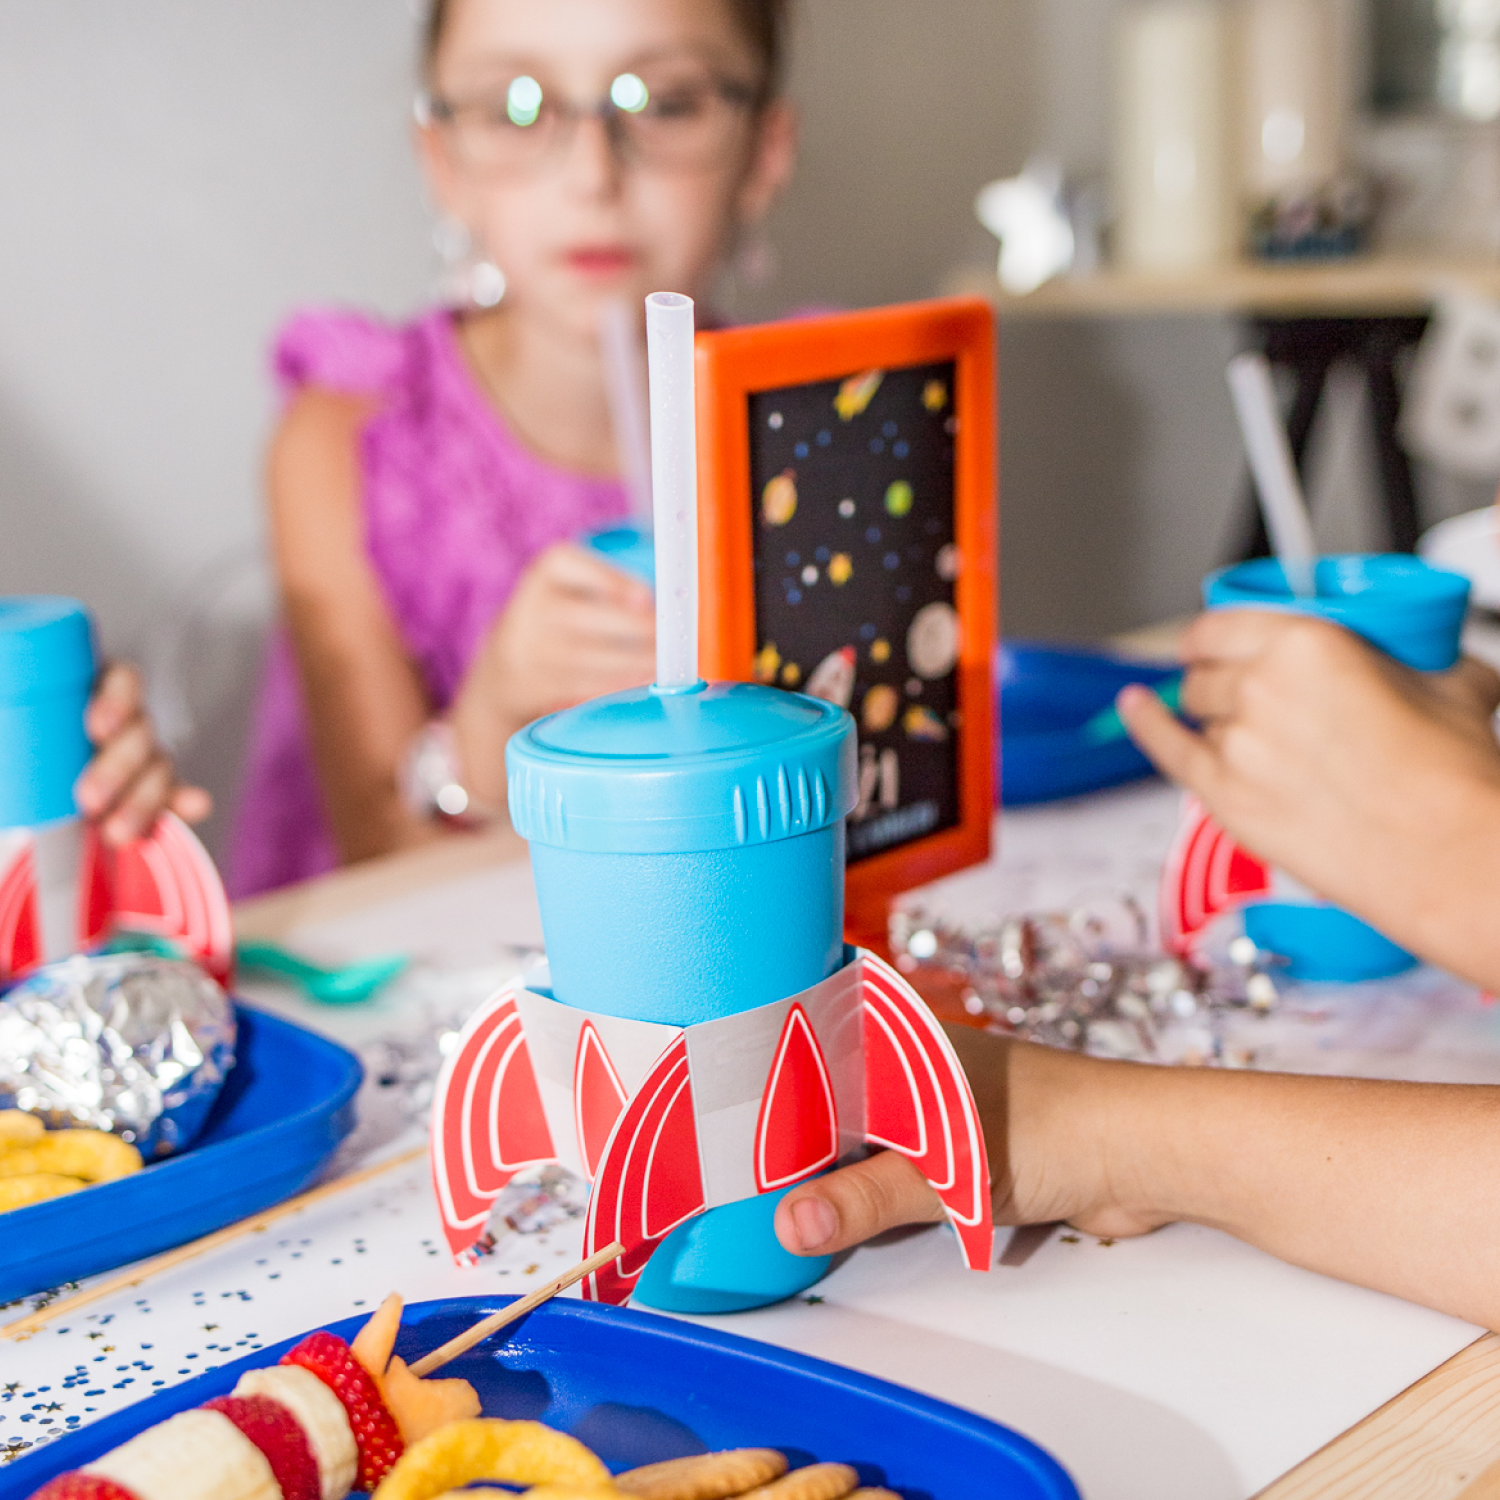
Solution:
[(198, 1143), (117, 1182), (0, 1214), (0, 1302), (154, 1256), (300, 1192), (354, 1128), (363, 1070), (246, 1005)]

